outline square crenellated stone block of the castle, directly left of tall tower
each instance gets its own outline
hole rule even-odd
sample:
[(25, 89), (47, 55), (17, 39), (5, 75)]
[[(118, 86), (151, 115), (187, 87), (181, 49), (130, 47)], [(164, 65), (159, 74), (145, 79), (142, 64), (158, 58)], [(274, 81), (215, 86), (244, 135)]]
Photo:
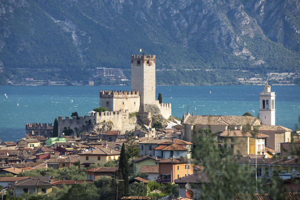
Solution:
[(107, 107), (110, 111), (137, 112), (140, 104), (138, 91), (100, 91), (99, 99), (100, 107)]

